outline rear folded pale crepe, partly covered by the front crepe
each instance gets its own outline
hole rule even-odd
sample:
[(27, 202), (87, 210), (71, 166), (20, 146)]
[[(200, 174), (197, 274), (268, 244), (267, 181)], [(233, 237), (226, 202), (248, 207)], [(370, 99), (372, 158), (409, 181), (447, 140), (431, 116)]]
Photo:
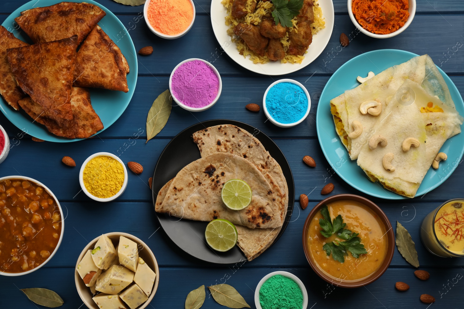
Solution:
[[(428, 55), (413, 57), (411, 60), (390, 67), (354, 89), (330, 101), (330, 110), (334, 118), (335, 129), (352, 160), (358, 158), (363, 145), (371, 135), (372, 128), (385, 113), (387, 102), (409, 79), (421, 84), (429, 94), (438, 95), (445, 104), (454, 107), (451, 94), (443, 76), (439, 73), (432, 58)], [(360, 105), (366, 101), (380, 101), (382, 112), (378, 116), (361, 114)], [(363, 127), (359, 137), (351, 139), (353, 121), (359, 121)]]

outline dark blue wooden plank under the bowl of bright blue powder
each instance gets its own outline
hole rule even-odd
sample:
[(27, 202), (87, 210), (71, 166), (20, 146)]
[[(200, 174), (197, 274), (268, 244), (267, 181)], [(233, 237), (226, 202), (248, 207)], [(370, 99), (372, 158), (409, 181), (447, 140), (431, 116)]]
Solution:
[[(282, 129), (272, 125), (270, 121), (266, 121), (267, 119), (262, 110), (259, 113), (251, 113), (245, 109), (245, 105), (248, 103), (258, 103), (262, 106), (264, 92), (276, 78), (271, 79), (269, 76), (226, 76), (222, 77), (222, 94), (219, 101), (213, 107), (201, 113), (191, 113), (179, 106), (174, 106), (168, 123), (157, 135), (157, 138), (172, 138), (188, 126), (200, 121), (220, 118), (248, 123), (271, 138), (316, 138), (316, 109), (322, 89), (329, 80), (329, 76), (312, 76), (310, 78), (304, 76), (295, 77), (294, 79), (301, 82), (308, 89), (311, 96), (311, 111), (309, 116), (298, 126)], [(461, 91), (461, 95), (464, 95), (464, 76), (451, 76), (451, 80)], [(136, 132), (142, 132), (143, 130), (141, 135), (145, 139), (148, 110), (155, 98), (167, 88), (167, 76), (140, 76), (129, 107), (127, 107), (119, 120), (99, 134), (100, 138), (129, 139), (130, 137), (134, 137)], [(329, 102), (324, 102), (324, 104), (328, 106)], [(13, 126), (1, 113), (0, 123), (11, 139), (18, 139), (18, 136), (21, 136), (21, 130)], [(335, 128), (330, 128), (330, 130), (334, 130), (335, 132)]]

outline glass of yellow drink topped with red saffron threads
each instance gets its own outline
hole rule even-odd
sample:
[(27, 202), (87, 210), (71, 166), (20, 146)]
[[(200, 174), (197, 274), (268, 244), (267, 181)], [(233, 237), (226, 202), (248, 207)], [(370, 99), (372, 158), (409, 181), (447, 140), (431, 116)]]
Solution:
[(464, 199), (444, 202), (425, 216), (420, 227), (424, 246), (440, 257), (464, 257)]

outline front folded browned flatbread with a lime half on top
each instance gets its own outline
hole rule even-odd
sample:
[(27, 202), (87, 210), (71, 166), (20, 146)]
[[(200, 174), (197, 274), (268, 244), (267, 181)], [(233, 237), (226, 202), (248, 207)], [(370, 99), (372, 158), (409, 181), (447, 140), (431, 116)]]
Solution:
[[(230, 179), (244, 179), (251, 188), (250, 205), (232, 210), (222, 202), (221, 190)], [(185, 166), (177, 173), (163, 201), (155, 210), (179, 218), (212, 221), (227, 219), (251, 228), (281, 227), (284, 198), (280, 188), (250, 161), (236, 155), (215, 152)]]

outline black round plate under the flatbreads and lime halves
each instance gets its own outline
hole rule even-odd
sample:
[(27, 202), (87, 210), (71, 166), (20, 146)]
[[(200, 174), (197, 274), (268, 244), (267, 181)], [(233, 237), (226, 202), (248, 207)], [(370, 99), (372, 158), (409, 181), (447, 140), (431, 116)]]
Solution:
[[(277, 241), (280, 235), (284, 233), (290, 221), (294, 205), (295, 183), (293, 182), (290, 165), (284, 153), (282, 153), (272, 139), (263, 132), (260, 132), (257, 128), (240, 121), (225, 119), (207, 120), (189, 126), (187, 129), (177, 134), (174, 139), (168, 143), (166, 148), (164, 148), (163, 152), (161, 152), (160, 158), (156, 163), (152, 185), (153, 205), (155, 205), (156, 195), (158, 195), (162, 186), (174, 178), (184, 166), (200, 158), (200, 151), (198, 150), (197, 144), (193, 143), (192, 134), (209, 126), (224, 124), (239, 126), (253, 134), (259, 139), (261, 144), (263, 144), (264, 148), (271, 153), (271, 156), (277, 163), (280, 164), (284, 172), (289, 187), (289, 206), (284, 225), (275, 240)], [(233, 264), (245, 260), (245, 255), (238, 246), (235, 246), (227, 252), (217, 252), (206, 244), (205, 229), (208, 222), (179, 219), (171, 217), (168, 214), (156, 213), (156, 216), (168, 237), (174, 241), (180, 249), (197, 259), (217, 264)]]

